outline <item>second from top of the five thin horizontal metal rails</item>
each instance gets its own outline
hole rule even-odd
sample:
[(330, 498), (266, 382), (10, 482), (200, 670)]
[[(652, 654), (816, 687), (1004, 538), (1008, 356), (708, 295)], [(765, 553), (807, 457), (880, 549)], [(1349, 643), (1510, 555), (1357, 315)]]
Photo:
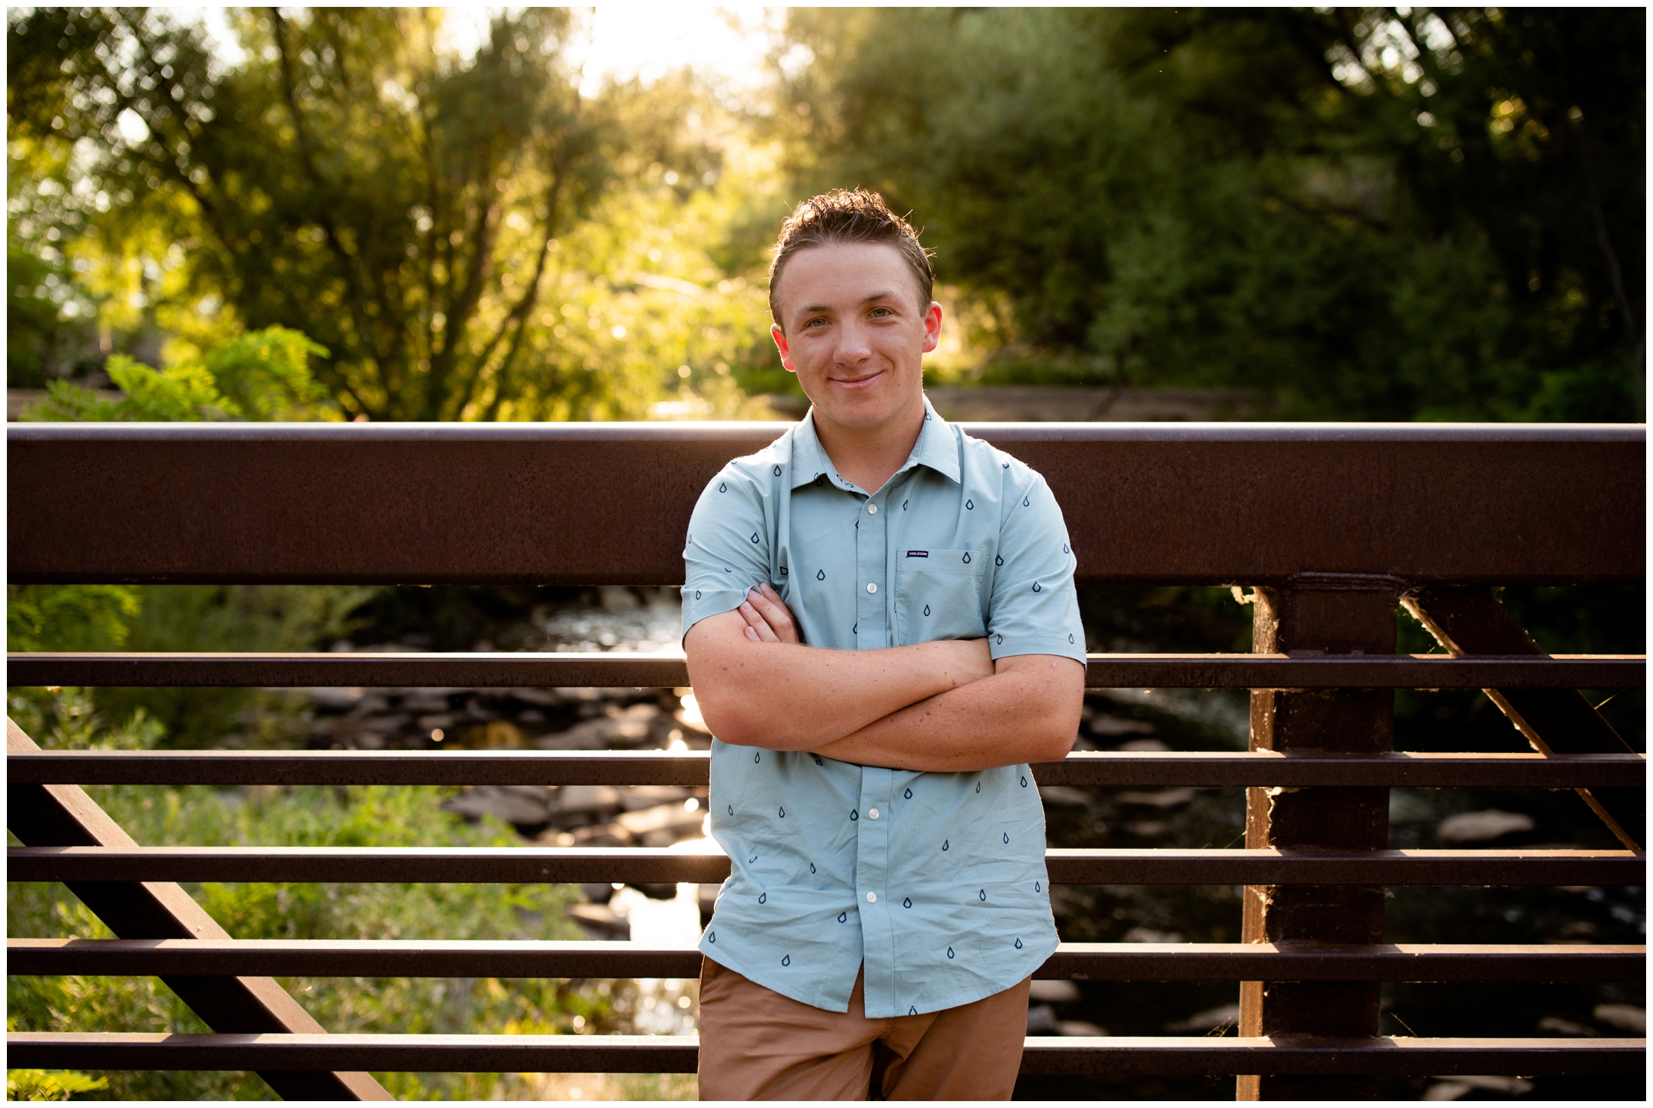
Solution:
[[(706, 751), (41, 751), (7, 759), (13, 782), (83, 786), (704, 786)], [(1041, 786), (1109, 789), (1638, 786), (1643, 754), (1278, 754), (1074, 751), (1038, 762)]]

